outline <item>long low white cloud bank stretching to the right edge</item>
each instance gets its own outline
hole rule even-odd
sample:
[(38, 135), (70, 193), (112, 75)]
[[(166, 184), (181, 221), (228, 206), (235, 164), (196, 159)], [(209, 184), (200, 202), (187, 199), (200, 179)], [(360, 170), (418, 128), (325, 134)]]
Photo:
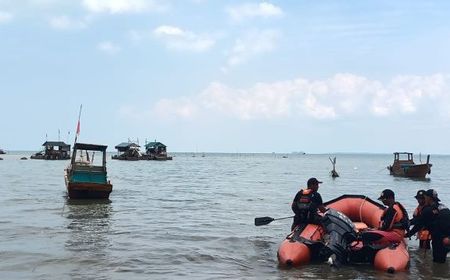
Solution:
[(194, 97), (164, 99), (161, 118), (223, 115), (241, 120), (386, 117), (436, 114), (450, 117), (450, 75), (399, 76), (383, 84), (352, 74), (259, 83), (247, 89), (212, 83)]

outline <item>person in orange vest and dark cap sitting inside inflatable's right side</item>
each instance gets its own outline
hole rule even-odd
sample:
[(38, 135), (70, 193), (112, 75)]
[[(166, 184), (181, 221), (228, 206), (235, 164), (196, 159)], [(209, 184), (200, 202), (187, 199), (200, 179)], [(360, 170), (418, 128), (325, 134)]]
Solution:
[(395, 201), (395, 193), (390, 189), (383, 190), (378, 199), (387, 206), (381, 216), (379, 229), (396, 233), (400, 240), (405, 236), (405, 230), (409, 229), (408, 212)]

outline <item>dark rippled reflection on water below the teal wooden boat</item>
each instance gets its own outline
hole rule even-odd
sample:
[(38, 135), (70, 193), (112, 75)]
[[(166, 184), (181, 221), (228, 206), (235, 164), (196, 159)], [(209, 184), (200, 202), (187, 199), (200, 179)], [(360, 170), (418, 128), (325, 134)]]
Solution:
[(69, 199), (65, 207), (70, 232), (65, 249), (70, 252), (71, 259), (85, 268), (74, 268), (69, 274), (77, 279), (88, 277), (88, 271), (96, 271), (96, 277), (99, 277), (111, 260), (108, 250), (111, 246), (111, 201)]

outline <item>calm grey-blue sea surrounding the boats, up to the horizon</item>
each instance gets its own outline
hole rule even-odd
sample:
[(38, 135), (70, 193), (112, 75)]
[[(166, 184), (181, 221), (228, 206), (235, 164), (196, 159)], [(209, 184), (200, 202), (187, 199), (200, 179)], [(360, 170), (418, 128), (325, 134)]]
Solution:
[[(1, 155), (0, 279), (448, 279), (450, 262), (409, 242), (408, 272), (370, 265), (277, 266), (291, 220), (255, 227), (254, 218), (290, 216), (309, 177), (324, 200), (342, 194), (376, 199), (392, 188), (410, 213), (418, 189), (434, 188), (450, 204), (450, 156), (432, 155), (430, 180), (394, 178), (392, 155), (175, 154), (173, 161), (108, 161), (110, 203), (66, 199), (68, 161)], [(425, 161), (426, 157), (423, 156)], [(416, 158), (416, 162), (419, 158)]]

